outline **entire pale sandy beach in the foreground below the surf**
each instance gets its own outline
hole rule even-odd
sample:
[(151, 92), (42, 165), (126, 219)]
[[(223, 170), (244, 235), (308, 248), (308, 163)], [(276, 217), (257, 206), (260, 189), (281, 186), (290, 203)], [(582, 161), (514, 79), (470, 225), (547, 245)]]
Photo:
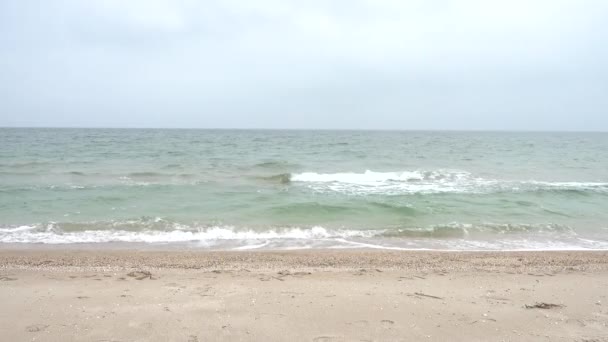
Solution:
[(608, 252), (0, 250), (2, 341), (608, 341), (607, 297)]

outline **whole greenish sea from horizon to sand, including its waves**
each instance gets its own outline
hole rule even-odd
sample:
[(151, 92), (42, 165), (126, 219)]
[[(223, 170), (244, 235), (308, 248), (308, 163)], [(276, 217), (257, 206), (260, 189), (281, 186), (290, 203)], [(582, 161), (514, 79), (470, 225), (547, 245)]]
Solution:
[(0, 242), (608, 249), (608, 134), (4, 128)]

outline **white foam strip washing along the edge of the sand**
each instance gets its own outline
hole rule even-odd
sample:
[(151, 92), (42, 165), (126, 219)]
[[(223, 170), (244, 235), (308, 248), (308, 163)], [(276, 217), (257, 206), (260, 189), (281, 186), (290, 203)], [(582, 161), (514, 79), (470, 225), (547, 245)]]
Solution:
[(78, 244), (78, 243), (194, 243), (215, 249), (309, 249), (369, 248), (386, 250), (608, 250), (608, 239), (591, 238), (552, 230), (494, 236), (488, 238), (387, 237), (386, 230), (347, 230), (276, 228), (264, 231), (228, 226), (193, 229), (175, 226), (172, 230), (128, 231), (124, 229), (63, 231), (59, 225), (32, 225), (0, 228), (0, 243)]

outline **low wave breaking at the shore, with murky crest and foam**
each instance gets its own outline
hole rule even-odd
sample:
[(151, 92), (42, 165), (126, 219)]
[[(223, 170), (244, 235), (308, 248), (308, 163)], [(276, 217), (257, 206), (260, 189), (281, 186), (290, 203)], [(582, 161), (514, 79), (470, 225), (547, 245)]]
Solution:
[(188, 244), (211, 249), (380, 248), (388, 250), (608, 250), (608, 239), (556, 224), (462, 224), (426, 228), (331, 229), (183, 225), (162, 218), (45, 223), (0, 228), (0, 243)]

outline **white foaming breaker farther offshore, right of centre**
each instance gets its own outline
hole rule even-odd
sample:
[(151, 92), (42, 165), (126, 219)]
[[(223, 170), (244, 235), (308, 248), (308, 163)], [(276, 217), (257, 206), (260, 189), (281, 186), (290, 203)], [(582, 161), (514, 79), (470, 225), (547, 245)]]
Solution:
[(608, 182), (546, 182), (497, 180), (461, 170), (363, 173), (303, 172), (290, 175), (292, 183), (317, 192), (347, 194), (489, 193), (530, 191), (608, 192)]

